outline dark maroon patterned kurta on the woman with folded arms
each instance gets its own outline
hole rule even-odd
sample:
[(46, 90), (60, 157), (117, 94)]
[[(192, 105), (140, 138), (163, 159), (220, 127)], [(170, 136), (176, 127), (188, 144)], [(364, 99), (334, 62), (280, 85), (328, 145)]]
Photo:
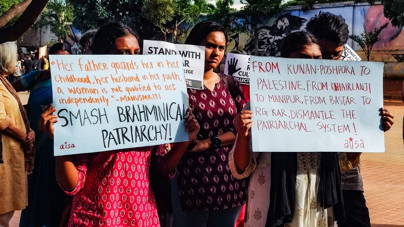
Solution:
[[(232, 95), (223, 80), (212, 91), (206, 87), (188, 89), (188, 95), (189, 106), (201, 126), (198, 140), (228, 131), (236, 133), (233, 120), (246, 105), (237, 80)], [(234, 178), (229, 169), (231, 147), (185, 153), (177, 166), (183, 211), (226, 209), (246, 202), (246, 179)]]

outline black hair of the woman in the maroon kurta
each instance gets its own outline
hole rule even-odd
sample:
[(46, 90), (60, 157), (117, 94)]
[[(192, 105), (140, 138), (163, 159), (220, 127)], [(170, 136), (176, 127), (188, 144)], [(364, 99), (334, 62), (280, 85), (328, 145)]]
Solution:
[(226, 39), (227, 45), (227, 33), (223, 25), (213, 22), (213, 21), (202, 21), (197, 23), (189, 32), (189, 36), (187, 40), (185, 40), (185, 44), (199, 45), (202, 40), (208, 36), (210, 32), (223, 32)]

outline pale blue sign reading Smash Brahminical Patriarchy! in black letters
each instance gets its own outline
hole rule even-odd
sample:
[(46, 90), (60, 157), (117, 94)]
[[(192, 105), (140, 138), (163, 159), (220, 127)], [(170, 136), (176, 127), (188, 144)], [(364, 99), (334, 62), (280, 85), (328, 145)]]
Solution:
[(49, 58), (55, 156), (188, 140), (181, 56)]

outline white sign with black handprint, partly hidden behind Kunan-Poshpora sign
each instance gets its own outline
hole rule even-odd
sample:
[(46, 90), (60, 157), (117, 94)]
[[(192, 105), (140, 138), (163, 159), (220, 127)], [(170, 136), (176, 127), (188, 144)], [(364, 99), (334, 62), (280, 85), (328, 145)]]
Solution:
[(236, 78), (240, 84), (250, 84), (250, 55), (227, 53), (224, 73)]

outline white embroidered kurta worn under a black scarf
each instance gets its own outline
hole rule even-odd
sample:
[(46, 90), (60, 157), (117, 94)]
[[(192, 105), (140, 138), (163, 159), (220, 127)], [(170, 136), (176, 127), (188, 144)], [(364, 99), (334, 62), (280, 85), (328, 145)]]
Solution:
[[(249, 109), (249, 103), (244, 109)], [(251, 130), (249, 131), (251, 133)], [(237, 135), (238, 137), (238, 135)], [(237, 141), (237, 138), (236, 138)], [(269, 209), (269, 189), (271, 187), (271, 153), (252, 152), (250, 140), (250, 162), (243, 173), (239, 173), (234, 164), (234, 149), (229, 153), (229, 168), (234, 177), (250, 177), (247, 190), (247, 210), (245, 227), (264, 227)], [(295, 214), (292, 223), (284, 227), (332, 227), (334, 212), (320, 206), (319, 184), (321, 153), (297, 152), (297, 178)], [(339, 154), (341, 171), (353, 169), (346, 153)]]

